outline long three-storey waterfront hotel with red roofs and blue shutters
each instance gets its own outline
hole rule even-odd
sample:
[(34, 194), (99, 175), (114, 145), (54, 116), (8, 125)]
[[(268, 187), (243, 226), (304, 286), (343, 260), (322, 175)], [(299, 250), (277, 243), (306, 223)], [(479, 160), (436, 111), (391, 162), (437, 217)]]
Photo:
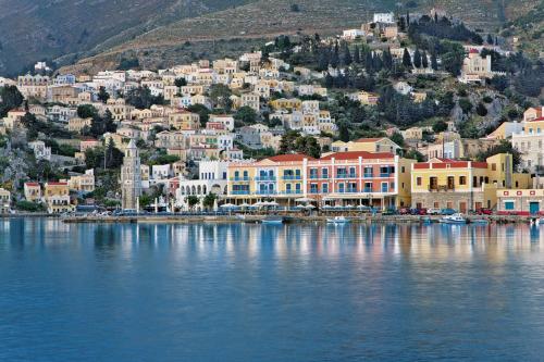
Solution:
[(273, 200), (294, 207), (307, 199), (324, 205), (410, 205), (410, 170), (415, 160), (388, 152), (335, 152), (313, 159), (281, 154), (228, 166), (227, 198), (235, 204)]

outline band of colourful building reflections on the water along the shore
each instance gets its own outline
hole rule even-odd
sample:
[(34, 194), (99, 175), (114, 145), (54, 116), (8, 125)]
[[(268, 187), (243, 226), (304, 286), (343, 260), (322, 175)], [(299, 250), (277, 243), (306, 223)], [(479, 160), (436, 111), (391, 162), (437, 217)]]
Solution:
[(132, 260), (138, 249), (168, 251), (225, 263), (287, 260), (307, 266), (314, 258), (331, 262), (384, 263), (398, 260), (470, 262), (485, 258), (500, 264), (517, 253), (539, 252), (544, 227), (519, 225), (415, 224), (64, 224), (58, 219), (0, 221), (0, 250), (67, 245), (92, 247), (97, 258)]

